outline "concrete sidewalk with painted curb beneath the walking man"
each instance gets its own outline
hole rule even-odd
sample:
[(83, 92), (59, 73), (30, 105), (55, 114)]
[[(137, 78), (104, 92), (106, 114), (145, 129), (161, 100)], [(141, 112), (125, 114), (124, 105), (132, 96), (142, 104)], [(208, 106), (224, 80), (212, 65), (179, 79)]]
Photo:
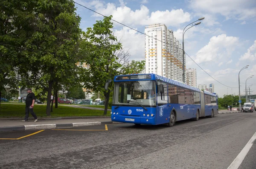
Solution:
[(62, 118), (62, 119), (41, 119), (37, 122), (29, 118), (28, 122), (17, 120), (0, 120), (1, 131), (15, 131), (15, 130), (47, 130), (60, 129), (81, 126), (93, 126), (101, 124), (113, 124), (111, 117), (87, 117), (87, 118)]

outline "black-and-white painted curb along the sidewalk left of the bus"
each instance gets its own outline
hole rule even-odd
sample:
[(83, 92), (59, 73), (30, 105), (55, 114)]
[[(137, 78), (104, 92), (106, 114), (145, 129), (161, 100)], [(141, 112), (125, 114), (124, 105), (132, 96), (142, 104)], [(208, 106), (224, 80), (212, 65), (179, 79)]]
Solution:
[(102, 124), (113, 124), (113, 122), (105, 121), (105, 122), (86, 122), (86, 123), (34, 124), (34, 125), (24, 125), (24, 126), (6, 126), (6, 127), (0, 127), (0, 132), (20, 131), (20, 130), (63, 129), (63, 128), (82, 127), (82, 126), (98, 126)]

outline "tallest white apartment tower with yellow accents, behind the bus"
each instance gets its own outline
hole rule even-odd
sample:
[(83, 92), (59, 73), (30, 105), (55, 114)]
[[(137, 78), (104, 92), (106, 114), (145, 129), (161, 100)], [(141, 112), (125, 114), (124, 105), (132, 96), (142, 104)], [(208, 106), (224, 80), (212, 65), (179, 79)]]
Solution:
[(145, 27), (145, 61), (145, 73), (156, 73), (169, 79), (183, 81), (182, 45), (166, 25), (154, 24)]

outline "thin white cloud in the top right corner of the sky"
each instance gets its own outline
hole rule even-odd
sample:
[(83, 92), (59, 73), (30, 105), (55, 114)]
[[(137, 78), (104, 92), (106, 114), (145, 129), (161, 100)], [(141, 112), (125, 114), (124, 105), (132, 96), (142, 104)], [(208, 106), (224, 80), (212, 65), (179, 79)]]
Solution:
[(256, 17), (255, 0), (190, 0), (195, 11), (221, 14), (226, 19), (245, 20)]

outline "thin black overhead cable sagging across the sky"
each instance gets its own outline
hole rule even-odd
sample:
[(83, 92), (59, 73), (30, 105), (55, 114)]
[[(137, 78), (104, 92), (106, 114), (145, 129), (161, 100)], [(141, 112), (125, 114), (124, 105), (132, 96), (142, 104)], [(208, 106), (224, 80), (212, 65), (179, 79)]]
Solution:
[[(76, 3), (75, 1), (73, 1), (74, 3)], [(79, 6), (82, 6), (82, 7), (84, 7), (84, 8), (87, 8), (86, 6), (83, 6), (83, 5), (81, 5), (81, 4), (79, 4), (79, 3), (76, 3), (77, 5), (79, 5)], [(96, 11), (94, 11), (94, 10), (92, 10), (92, 9), (90, 9), (90, 8), (87, 8), (88, 10), (90, 10), (90, 11), (93, 11), (93, 12), (95, 12), (96, 14), (99, 14), (99, 15), (101, 15), (101, 16), (103, 16), (103, 17), (107, 17), (107, 16), (105, 16), (105, 15), (103, 15), (103, 14), (100, 14), (99, 12), (96, 12)], [(113, 19), (111, 19), (111, 20), (113, 20)], [(120, 25), (123, 25), (123, 26), (125, 26), (125, 27), (127, 27), (127, 28), (130, 28), (130, 29), (132, 29), (132, 30), (134, 30), (134, 31), (137, 31), (137, 32), (139, 32), (140, 34), (143, 34), (143, 35), (145, 35), (145, 36), (148, 36), (148, 37), (151, 37), (151, 36), (149, 36), (149, 35), (147, 35), (147, 34), (144, 34), (143, 32), (141, 32), (141, 31), (138, 31), (138, 30), (136, 30), (136, 29), (134, 29), (134, 28), (131, 28), (130, 26), (127, 26), (127, 25), (125, 25), (125, 24), (123, 24), (123, 23), (120, 23), (120, 22), (118, 22), (118, 21), (116, 21), (116, 20), (113, 20), (114, 22), (116, 22), (116, 23), (119, 23)], [(157, 40), (157, 41), (159, 41), (159, 42), (163, 42), (162, 40), (159, 40), (159, 39), (157, 39), (157, 38), (154, 38), (154, 37), (151, 37), (151, 38), (153, 38), (153, 39), (155, 39), (155, 40)], [(171, 45), (171, 44), (169, 44), (169, 43), (166, 43), (166, 42), (163, 42), (163, 43), (165, 43), (165, 44), (167, 44), (167, 45)], [(172, 47), (175, 47), (175, 48), (178, 48), (178, 47), (176, 47), (176, 46), (173, 46), (173, 45), (171, 45)], [(181, 49), (181, 50), (183, 50), (182, 48), (178, 48), (178, 49)], [(185, 54), (186, 54), (186, 52), (185, 52)], [(189, 56), (188, 54), (186, 54), (187, 56)], [(193, 61), (193, 62), (195, 62), (190, 56), (189, 56), (189, 58)], [(198, 65), (196, 62), (195, 62), (195, 64), (196, 65)], [(201, 68), (199, 65), (198, 65), (198, 67), (199, 68)], [(203, 68), (201, 68), (202, 70), (204, 70)], [(207, 73), (205, 70), (204, 70), (204, 72), (205, 73)], [(208, 75), (209, 75), (209, 73), (207, 73)], [(209, 75), (212, 79), (214, 79), (211, 75)], [(216, 80), (216, 79), (214, 79), (216, 82), (218, 82), (218, 83), (220, 83), (221, 85), (224, 85), (223, 83), (221, 83), (221, 82), (219, 82), (218, 80)], [(226, 86), (226, 87), (230, 87), (230, 86), (227, 86), (227, 85), (224, 85), (224, 86)], [(230, 88), (238, 88), (238, 87), (230, 87)]]

